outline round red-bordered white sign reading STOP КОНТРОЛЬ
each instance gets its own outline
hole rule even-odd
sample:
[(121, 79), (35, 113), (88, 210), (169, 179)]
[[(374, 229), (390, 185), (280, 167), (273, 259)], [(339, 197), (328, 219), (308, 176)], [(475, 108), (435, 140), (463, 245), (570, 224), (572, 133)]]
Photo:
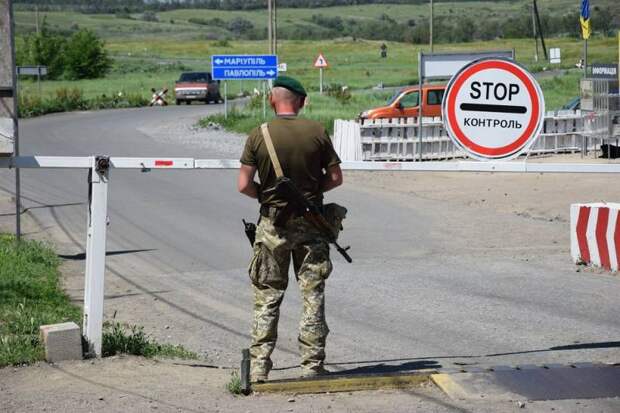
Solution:
[(512, 159), (540, 133), (545, 102), (540, 86), (509, 59), (485, 58), (450, 80), (443, 121), (454, 143), (479, 160)]

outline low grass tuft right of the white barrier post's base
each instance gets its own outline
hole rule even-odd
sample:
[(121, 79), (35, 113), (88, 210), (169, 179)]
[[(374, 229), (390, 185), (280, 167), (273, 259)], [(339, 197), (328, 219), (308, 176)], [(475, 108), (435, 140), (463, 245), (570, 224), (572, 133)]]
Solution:
[(106, 322), (103, 328), (103, 357), (131, 354), (142, 357), (196, 360), (198, 354), (181, 345), (159, 344), (144, 332), (144, 327)]

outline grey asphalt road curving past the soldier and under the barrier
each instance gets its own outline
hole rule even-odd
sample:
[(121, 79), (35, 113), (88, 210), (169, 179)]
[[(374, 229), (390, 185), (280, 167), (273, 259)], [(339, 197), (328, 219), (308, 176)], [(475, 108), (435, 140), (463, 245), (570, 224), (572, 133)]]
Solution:
[[(229, 157), (224, 144), (177, 144), (140, 131), (220, 109), (26, 120), (22, 154)], [(111, 172), (108, 318), (116, 314), (216, 363), (237, 364), (251, 322), (250, 247), (241, 218), (255, 218), (257, 207), (236, 192), (235, 178), (234, 171)], [(0, 171), (2, 189), (10, 191), (12, 182)], [(29, 214), (55, 234), (60, 253), (79, 258), (86, 172), (24, 170), (23, 188), (25, 206), (36, 207)], [(355, 260), (349, 265), (334, 253), (327, 287), (332, 369), (620, 361), (620, 279), (576, 273), (568, 246), (541, 235), (558, 231), (557, 223), (370, 191), (359, 176), (328, 200), (350, 209), (342, 241)], [(274, 354), (284, 368), (278, 374), (294, 374), (287, 368), (298, 362), (299, 315), (292, 277)]]

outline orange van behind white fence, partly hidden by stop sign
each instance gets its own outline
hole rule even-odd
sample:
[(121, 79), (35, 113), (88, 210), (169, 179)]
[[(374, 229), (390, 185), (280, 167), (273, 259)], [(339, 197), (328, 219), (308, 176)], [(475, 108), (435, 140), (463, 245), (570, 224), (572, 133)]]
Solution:
[[(422, 116), (441, 116), (441, 101), (446, 85), (423, 85)], [(420, 110), (418, 86), (407, 86), (392, 96), (386, 106), (360, 113), (360, 119), (414, 118)]]

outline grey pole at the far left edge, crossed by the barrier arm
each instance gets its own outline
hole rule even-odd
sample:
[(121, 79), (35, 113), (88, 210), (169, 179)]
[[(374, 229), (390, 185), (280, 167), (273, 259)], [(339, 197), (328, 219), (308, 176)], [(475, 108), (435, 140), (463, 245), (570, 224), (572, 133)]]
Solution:
[[(0, 154), (19, 155), (13, 0), (0, 0)], [(15, 237), (21, 238), (19, 168), (15, 168)]]

